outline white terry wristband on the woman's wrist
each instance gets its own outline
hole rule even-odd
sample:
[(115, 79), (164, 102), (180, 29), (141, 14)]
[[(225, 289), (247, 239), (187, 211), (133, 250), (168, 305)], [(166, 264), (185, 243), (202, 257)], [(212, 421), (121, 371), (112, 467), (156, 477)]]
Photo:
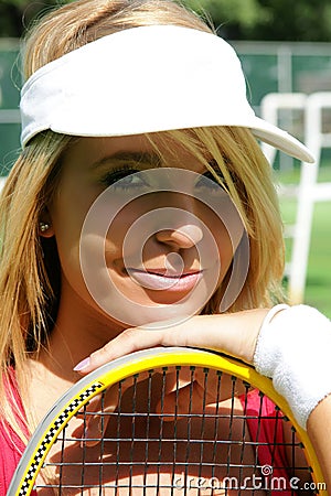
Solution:
[(254, 354), (256, 370), (270, 377), (299, 425), (331, 392), (331, 322), (307, 305), (277, 305), (265, 317)]

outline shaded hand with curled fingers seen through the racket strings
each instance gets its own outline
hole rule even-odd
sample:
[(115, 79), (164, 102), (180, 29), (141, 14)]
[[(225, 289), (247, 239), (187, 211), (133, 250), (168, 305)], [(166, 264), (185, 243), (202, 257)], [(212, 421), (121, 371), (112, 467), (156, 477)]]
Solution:
[(213, 369), (185, 366), (135, 374), (95, 397), (78, 413), (83, 422), (76, 438), (81, 448), (96, 446), (103, 439), (111, 438), (119, 417), (122, 421), (128, 413), (157, 413), (164, 422), (177, 422), (191, 414), (202, 419), (232, 392), (231, 376)]

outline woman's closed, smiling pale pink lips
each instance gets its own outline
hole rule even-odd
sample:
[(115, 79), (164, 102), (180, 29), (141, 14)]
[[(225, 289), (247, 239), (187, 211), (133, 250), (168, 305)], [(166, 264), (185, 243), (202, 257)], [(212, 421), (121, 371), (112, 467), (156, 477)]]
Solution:
[(195, 287), (202, 278), (202, 270), (170, 274), (162, 270), (127, 269), (128, 274), (139, 285), (158, 291), (188, 291)]

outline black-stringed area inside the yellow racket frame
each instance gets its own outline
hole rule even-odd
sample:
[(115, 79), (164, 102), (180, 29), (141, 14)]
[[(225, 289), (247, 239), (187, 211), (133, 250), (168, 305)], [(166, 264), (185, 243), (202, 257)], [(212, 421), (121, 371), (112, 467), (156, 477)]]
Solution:
[[(281, 436), (279, 409), (266, 411), (266, 397), (241, 379), (207, 368), (189, 367), (188, 374), (188, 367), (163, 367), (118, 385), (115, 409), (106, 389), (97, 416), (87, 405), (75, 419), (81, 427), (68, 422), (63, 429), (44, 463), (54, 478), (39, 478), (39, 489), (66, 496), (257, 495), (271, 494), (265, 482), (273, 474), (295, 473), (302, 451), (296, 433)], [(89, 436), (96, 417), (99, 433)], [(308, 473), (305, 463), (299, 470)]]

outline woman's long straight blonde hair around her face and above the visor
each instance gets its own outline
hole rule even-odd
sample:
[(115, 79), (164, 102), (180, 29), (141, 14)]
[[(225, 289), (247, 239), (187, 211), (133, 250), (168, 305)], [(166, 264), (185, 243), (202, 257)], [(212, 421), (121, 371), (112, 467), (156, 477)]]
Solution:
[[(78, 0), (47, 14), (25, 43), (24, 75), (106, 34), (148, 24), (175, 24), (212, 31), (200, 18), (171, 0)], [(277, 195), (269, 164), (246, 129), (203, 128), (169, 131), (172, 139), (222, 172), (250, 240), (250, 267), (229, 311), (267, 306), (280, 299), (284, 246)], [(153, 142), (153, 136), (148, 136)], [(0, 416), (23, 441), (19, 409), (6, 393), (8, 370), (15, 369), (21, 390), (23, 365), (46, 343), (56, 319), (60, 262), (54, 239), (39, 236), (39, 220), (56, 190), (62, 157), (75, 138), (47, 131), (36, 136), (14, 164), (0, 201)], [(217, 312), (224, 288), (204, 313)], [(26, 379), (25, 379), (26, 380)], [(26, 409), (29, 410), (29, 408)], [(29, 418), (29, 411), (26, 411)], [(30, 421), (31, 422), (31, 421)], [(29, 421), (28, 421), (29, 423)], [(31, 424), (30, 424), (31, 427)]]

